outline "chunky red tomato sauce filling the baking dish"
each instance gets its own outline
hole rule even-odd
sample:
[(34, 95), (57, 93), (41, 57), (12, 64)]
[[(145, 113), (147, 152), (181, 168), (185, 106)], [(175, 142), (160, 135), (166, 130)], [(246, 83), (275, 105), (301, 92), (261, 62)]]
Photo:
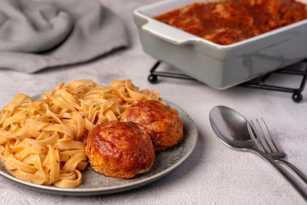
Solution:
[(154, 19), (229, 45), (307, 19), (307, 6), (295, 0), (195, 2)]

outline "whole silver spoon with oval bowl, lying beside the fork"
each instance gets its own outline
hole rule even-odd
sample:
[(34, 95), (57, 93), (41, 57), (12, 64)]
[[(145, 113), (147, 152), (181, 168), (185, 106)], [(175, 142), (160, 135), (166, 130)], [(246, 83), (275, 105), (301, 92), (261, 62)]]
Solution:
[(210, 123), (216, 135), (227, 146), (240, 151), (251, 151), (267, 159), (307, 201), (307, 188), (269, 155), (254, 148), (249, 122), (238, 112), (226, 106), (210, 111)]

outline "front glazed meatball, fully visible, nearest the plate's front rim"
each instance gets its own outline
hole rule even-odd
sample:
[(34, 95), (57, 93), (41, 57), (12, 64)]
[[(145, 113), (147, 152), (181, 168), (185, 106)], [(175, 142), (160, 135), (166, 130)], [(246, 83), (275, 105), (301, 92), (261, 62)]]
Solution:
[(143, 126), (109, 121), (89, 131), (86, 155), (96, 172), (107, 177), (129, 179), (150, 170), (154, 148)]

